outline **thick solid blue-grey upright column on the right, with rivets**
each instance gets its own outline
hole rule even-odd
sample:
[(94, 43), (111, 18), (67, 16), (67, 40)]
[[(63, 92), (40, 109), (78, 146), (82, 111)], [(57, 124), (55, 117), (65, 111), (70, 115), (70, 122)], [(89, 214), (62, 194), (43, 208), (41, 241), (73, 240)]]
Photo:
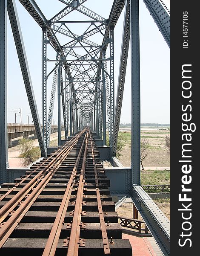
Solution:
[(140, 39), (139, 0), (132, 0), (131, 17), (131, 169), (132, 183), (140, 185)]

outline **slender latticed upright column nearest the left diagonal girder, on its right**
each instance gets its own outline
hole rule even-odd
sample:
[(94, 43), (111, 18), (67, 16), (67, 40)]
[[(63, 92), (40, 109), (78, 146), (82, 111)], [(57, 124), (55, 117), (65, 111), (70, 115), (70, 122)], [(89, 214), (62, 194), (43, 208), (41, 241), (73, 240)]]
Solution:
[(43, 30), (43, 143), (44, 148), (47, 147), (47, 108), (46, 108), (46, 86), (47, 86), (47, 79), (46, 79), (46, 50), (47, 50), (47, 35), (46, 35), (46, 27), (42, 28)]

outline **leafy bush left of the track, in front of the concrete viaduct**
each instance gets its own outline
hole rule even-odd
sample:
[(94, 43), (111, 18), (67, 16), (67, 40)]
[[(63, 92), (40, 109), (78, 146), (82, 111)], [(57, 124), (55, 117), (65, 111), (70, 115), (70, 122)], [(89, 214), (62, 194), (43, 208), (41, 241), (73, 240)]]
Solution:
[(40, 157), (39, 147), (33, 145), (33, 141), (29, 139), (20, 140), (20, 155), (23, 166), (28, 166)]

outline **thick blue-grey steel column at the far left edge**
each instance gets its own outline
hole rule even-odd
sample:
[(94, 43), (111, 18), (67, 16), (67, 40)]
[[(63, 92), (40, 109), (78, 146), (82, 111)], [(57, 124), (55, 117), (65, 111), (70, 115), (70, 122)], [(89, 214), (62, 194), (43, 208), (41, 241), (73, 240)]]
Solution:
[(7, 0), (0, 1), (0, 184), (6, 182), (7, 134)]

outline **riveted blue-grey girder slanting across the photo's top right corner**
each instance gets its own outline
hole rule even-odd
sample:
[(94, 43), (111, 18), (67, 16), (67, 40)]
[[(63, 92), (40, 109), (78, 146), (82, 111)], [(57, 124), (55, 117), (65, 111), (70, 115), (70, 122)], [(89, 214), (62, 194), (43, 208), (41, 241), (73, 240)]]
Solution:
[(161, 0), (144, 0), (147, 9), (170, 48), (170, 10)]

